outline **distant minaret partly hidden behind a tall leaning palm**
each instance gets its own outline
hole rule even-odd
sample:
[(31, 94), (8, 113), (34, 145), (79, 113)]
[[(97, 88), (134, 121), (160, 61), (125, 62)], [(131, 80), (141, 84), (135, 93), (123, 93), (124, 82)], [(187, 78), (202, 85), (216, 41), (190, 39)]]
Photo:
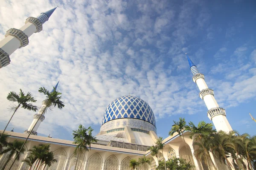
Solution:
[[(58, 83), (59, 83), (59, 81), (58, 81)], [(56, 90), (57, 87), (58, 87), (58, 83), (55, 85), (55, 90)], [(54, 91), (54, 88), (52, 89), (51, 93), (52, 93), (53, 91)], [(42, 109), (43, 107), (45, 107), (44, 101), (43, 101), (43, 103), (42, 103), (41, 109)], [(44, 116), (44, 114), (42, 114), (42, 112), (41, 112), (42, 110), (41, 110), (41, 109), (38, 111), (37, 114), (34, 115), (34, 119), (33, 119), (32, 123), (31, 123), (31, 125), (29, 126), (29, 129), (28, 129), (28, 130), (25, 130), (24, 133), (29, 134), (30, 131), (32, 130), (32, 128), (34, 127), (34, 125), (36, 124), (36, 122), (38, 121), (37, 124), (35, 125), (35, 127), (34, 127), (32, 133), (31, 133), (32, 135), (37, 135), (37, 132), (36, 132), (36, 131), (38, 130), (39, 125), (40, 125), (41, 122), (43, 122), (44, 119), (45, 119), (45, 116)], [(38, 120), (38, 119), (39, 119), (39, 120)]]

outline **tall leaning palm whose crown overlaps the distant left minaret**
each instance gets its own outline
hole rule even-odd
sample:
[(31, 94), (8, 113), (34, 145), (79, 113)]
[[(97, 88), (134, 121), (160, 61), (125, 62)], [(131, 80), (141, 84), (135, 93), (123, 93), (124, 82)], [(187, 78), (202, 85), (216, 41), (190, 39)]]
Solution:
[[(51, 92), (49, 92), (47, 89), (43, 88), (39, 88), (39, 93), (42, 93), (44, 95), (46, 95), (46, 99), (44, 100), (44, 105), (40, 108), (39, 110), (39, 114), (44, 115), (45, 113), (47, 113), (48, 110), (52, 110), (52, 108), (58, 106), (59, 109), (64, 108), (64, 102), (61, 101), (61, 93), (56, 91), (56, 88), (53, 87), (53, 90)], [(39, 119), (37, 120), (37, 122), (35, 123), (35, 125), (37, 125)], [(34, 127), (30, 130), (29, 135), (27, 136), (23, 146), (26, 144), (27, 140), (29, 139), (29, 136), (31, 135)], [(12, 163), (12, 165), (14, 164), (14, 162)], [(10, 169), (12, 168), (12, 165), (10, 167)], [(9, 170), (10, 170), (9, 169)]]

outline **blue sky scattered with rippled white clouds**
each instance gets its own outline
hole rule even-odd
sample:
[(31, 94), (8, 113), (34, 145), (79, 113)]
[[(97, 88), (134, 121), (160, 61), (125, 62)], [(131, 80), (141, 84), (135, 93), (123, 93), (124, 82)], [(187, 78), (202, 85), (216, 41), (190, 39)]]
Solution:
[[(233, 129), (256, 135), (249, 116), (256, 117), (255, 1), (4, 0), (0, 39), (57, 5), (43, 31), (0, 70), (0, 129), (11, 116), (9, 91), (30, 91), (41, 105), (38, 88), (51, 90), (58, 80), (65, 108), (46, 114), (42, 136), (71, 140), (79, 124), (96, 135), (108, 104), (129, 93), (151, 106), (159, 136), (167, 137), (179, 117), (210, 123), (187, 52)], [(8, 130), (23, 132), (34, 114), (20, 109)]]

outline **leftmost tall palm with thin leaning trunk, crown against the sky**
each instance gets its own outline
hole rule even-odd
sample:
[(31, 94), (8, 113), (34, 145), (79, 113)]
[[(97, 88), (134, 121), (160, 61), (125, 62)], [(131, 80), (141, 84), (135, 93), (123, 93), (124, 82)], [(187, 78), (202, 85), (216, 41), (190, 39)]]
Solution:
[[(26, 95), (24, 94), (24, 92), (20, 89), (20, 93), (17, 94), (14, 91), (11, 91), (8, 95), (7, 95), (7, 100), (9, 100), (10, 102), (17, 102), (17, 105), (12, 104), (10, 106), (10, 110), (14, 111), (12, 113), (12, 116), (9, 120), (9, 122), (7, 123), (6, 127), (3, 130), (3, 133), (5, 132), (7, 126), (9, 125), (9, 123), (12, 120), (12, 117), (14, 116), (14, 114), (16, 113), (16, 111), (18, 110), (18, 108), (24, 108), (27, 109), (29, 111), (37, 111), (38, 108), (37, 106), (32, 105), (32, 102), (36, 102), (36, 99), (32, 96), (32, 94), (30, 92), (28, 92)], [(30, 102), (30, 103), (29, 103)], [(2, 137), (3, 133), (1, 134), (0, 138)]]

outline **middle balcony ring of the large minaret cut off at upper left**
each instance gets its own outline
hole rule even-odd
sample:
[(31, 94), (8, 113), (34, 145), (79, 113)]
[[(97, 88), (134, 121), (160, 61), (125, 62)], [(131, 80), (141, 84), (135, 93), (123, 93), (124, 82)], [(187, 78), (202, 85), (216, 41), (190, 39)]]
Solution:
[(25, 47), (26, 45), (29, 44), (29, 37), (19, 29), (16, 29), (16, 28), (9, 29), (8, 31), (6, 31), (5, 36), (7, 37), (8, 35), (12, 35), (20, 40), (20, 44), (21, 44), (20, 48)]

